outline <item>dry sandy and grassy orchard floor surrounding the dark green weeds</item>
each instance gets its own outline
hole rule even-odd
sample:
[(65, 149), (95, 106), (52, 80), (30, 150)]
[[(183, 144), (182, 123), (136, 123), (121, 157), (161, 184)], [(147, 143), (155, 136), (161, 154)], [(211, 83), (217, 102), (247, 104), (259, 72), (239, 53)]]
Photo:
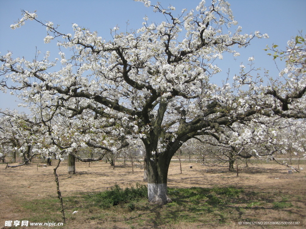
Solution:
[[(238, 177), (225, 169), (206, 168), (194, 163), (183, 163), (183, 174), (180, 174), (177, 162), (170, 165), (168, 186), (171, 188), (232, 186), (235, 190), (244, 190), (239, 198), (230, 198), (226, 203), (219, 203), (218, 199), (226, 197), (216, 194), (217, 202), (210, 204), (204, 196), (194, 195), (186, 199), (172, 195), (174, 202), (162, 207), (149, 205), (142, 199), (133, 202), (133, 210), (129, 208), (131, 203), (109, 209), (93, 206), (85, 199), (86, 194), (109, 190), (115, 183), (121, 187), (129, 187), (136, 182), (144, 184), (141, 182), (142, 169), (136, 168), (132, 172), (130, 166), (119, 165), (113, 170), (104, 162), (92, 163), (90, 167), (88, 163), (78, 162), (76, 175), (67, 174), (65, 163), (60, 166), (58, 174), (67, 218), (67, 224), (62, 228), (254, 228), (238, 226), (237, 221), (305, 221), (305, 172), (289, 175), (286, 168), (272, 163), (241, 167)], [(4, 168), (0, 165), (0, 228), (5, 220), (61, 221), (53, 166), (39, 167), (38, 170), (35, 165), (24, 166), (20, 170)], [(72, 214), (75, 210), (78, 213)]]

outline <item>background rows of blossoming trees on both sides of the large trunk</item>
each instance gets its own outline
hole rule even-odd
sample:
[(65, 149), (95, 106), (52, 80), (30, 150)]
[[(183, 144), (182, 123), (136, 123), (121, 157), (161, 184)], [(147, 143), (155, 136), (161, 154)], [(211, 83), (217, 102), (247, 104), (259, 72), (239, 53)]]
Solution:
[[(0, 131), (1, 157), (6, 156), (12, 158), (12, 162), (16, 162), (17, 158), (22, 158), (22, 163), (18, 166), (28, 164), (33, 157), (45, 159), (62, 158), (67, 155), (63, 149), (63, 142), (67, 140), (67, 132), (62, 131), (64, 138), (58, 137), (57, 142), (61, 142), (61, 146), (51, 140), (51, 134), (44, 132), (41, 129), (42, 122), (37, 122), (37, 118), (30, 120), (29, 115), (20, 114), (17, 111), (0, 111)], [(60, 117), (60, 116), (59, 116)], [(62, 117), (60, 117), (62, 118)], [(230, 171), (235, 171), (235, 163), (239, 159), (258, 158), (278, 160), (278, 158), (287, 158), (292, 164), (292, 159), (300, 159), (305, 157), (305, 122), (304, 120), (294, 120), (285, 118), (260, 118), (252, 120), (250, 123), (235, 123), (230, 127), (223, 127), (218, 133), (207, 133), (207, 135), (194, 137), (185, 142), (180, 155), (187, 156), (187, 160), (197, 160), (203, 165), (220, 167), (229, 167)], [(53, 119), (55, 122), (56, 119)], [(58, 125), (58, 124), (57, 124)], [(66, 126), (69, 131), (75, 129)], [(57, 136), (59, 136), (57, 134)], [(73, 136), (76, 136), (73, 133)], [(76, 171), (76, 158), (83, 162), (98, 161), (106, 159), (110, 165), (115, 165), (115, 160), (121, 158), (129, 160), (133, 166), (141, 165), (144, 159), (144, 147), (141, 142), (123, 148), (119, 151), (107, 151), (105, 148), (100, 149), (98, 145), (91, 144), (91, 147), (78, 142), (77, 138), (73, 138), (68, 146), (74, 146), (73, 152), (67, 155), (68, 158), (68, 173), (74, 174)], [(82, 147), (83, 144), (83, 147)], [(52, 147), (51, 147), (52, 146)], [(71, 147), (72, 148), (72, 147)], [(178, 154), (178, 152), (177, 152)], [(247, 161), (247, 160), (246, 160)], [(278, 163), (289, 166), (282, 160)], [(11, 165), (8, 165), (12, 167)], [(294, 168), (300, 169), (300, 168)]]

